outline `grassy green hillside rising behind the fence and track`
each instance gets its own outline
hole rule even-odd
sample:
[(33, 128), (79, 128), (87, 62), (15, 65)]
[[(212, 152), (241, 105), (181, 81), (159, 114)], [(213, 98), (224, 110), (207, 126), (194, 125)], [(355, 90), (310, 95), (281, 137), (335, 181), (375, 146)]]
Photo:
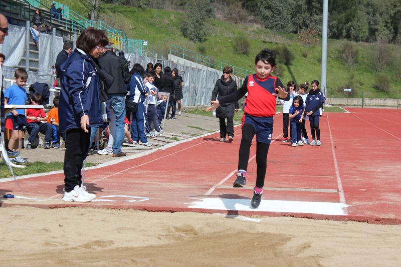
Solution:
[[(86, 17), (90, 6), (83, 2), (63, 0), (61, 3)], [(261, 49), (280, 50), (283, 46), (294, 55), (289, 64), (280, 61), (273, 73), (284, 84), (293, 80), (297, 84), (320, 80), (321, 40), (306, 48), (297, 34), (272, 34), (258, 25), (237, 25), (215, 19), (207, 20), (209, 31), (205, 42), (193, 43), (182, 37), (180, 26), (185, 14), (155, 9), (140, 9), (101, 3), (99, 18), (115, 29), (125, 31), (129, 38), (148, 40), (148, 50), (165, 57), (170, 45), (202, 54), (228, 65), (254, 70), (254, 59)], [(248, 55), (238, 53), (235, 38), (245, 37), (249, 41)], [(351, 45), (349, 45), (351, 44)], [(388, 58), (380, 72), (372, 63), (373, 52), (378, 43), (355, 43), (347, 40), (328, 40), (327, 51), (327, 97), (345, 97), (344, 88), (351, 88), (349, 97), (397, 98), (401, 86), (401, 49), (397, 45), (383, 45), (381, 57)], [(346, 65), (342, 56), (345, 50), (353, 49), (358, 57), (352, 66)]]

